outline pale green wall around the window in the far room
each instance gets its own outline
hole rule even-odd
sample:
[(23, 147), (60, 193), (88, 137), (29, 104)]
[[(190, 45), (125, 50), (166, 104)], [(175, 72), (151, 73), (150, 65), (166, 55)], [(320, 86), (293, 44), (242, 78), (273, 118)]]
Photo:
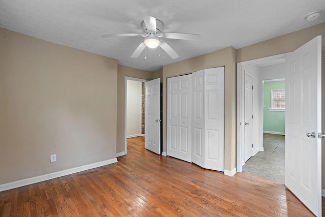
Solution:
[(271, 108), (271, 89), (284, 89), (285, 81), (264, 82), (263, 86), (263, 131), (284, 133), (285, 112), (269, 111)]

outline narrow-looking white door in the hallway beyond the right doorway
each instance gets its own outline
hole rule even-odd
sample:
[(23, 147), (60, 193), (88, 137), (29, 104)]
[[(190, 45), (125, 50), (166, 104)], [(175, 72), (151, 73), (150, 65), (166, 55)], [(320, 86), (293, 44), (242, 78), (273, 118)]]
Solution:
[(253, 78), (245, 71), (245, 94), (244, 94), (244, 161), (246, 162), (253, 154), (252, 148), (252, 96)]

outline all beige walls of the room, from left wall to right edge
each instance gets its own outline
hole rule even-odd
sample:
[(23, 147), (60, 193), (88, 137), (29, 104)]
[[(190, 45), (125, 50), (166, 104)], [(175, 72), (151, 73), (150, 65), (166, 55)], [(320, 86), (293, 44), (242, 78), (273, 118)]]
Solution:
[[(124, 151), (125, 76), (161, 78), (166, 151), (167, 78), (218, 66), (225, 66), (224, 165), (232, 171), (236, 167), (236, 63), (293, 51), (317, 35), (322, 35), (325, 51), (322, 23), (238, 50), (228, 47), (182, 60), (150, 73), (0, 28), (0, 184), (109, 160)], [(323, 58), (322, 66), (323, 74)], [(53, 153), (57, 162), (50, 163)], [(322, 153), (325, 156), (325, 148)], [(323, 189), (324, 162), (323, 158)]]

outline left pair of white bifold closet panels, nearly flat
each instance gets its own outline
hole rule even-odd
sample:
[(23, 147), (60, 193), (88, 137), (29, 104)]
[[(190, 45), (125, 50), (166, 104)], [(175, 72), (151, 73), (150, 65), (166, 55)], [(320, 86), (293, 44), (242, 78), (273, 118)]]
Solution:
[(167, 155), (192, 162), (191, 75), (167, 79)]

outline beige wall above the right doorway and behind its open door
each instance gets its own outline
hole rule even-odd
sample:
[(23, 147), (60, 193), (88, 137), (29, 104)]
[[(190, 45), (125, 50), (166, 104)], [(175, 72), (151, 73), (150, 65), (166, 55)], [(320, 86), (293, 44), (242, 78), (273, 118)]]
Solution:
[[(311, 26), (237, 50), (237, 63), (296, 50), (316, 36), (322, 36), (322, 99), (325, 98), (325, 23)], [(322, 132), (325, 132), (325, 104), (322, 101)], [(322, 139), (322, 189), (325, 189), (325, 139)]]

